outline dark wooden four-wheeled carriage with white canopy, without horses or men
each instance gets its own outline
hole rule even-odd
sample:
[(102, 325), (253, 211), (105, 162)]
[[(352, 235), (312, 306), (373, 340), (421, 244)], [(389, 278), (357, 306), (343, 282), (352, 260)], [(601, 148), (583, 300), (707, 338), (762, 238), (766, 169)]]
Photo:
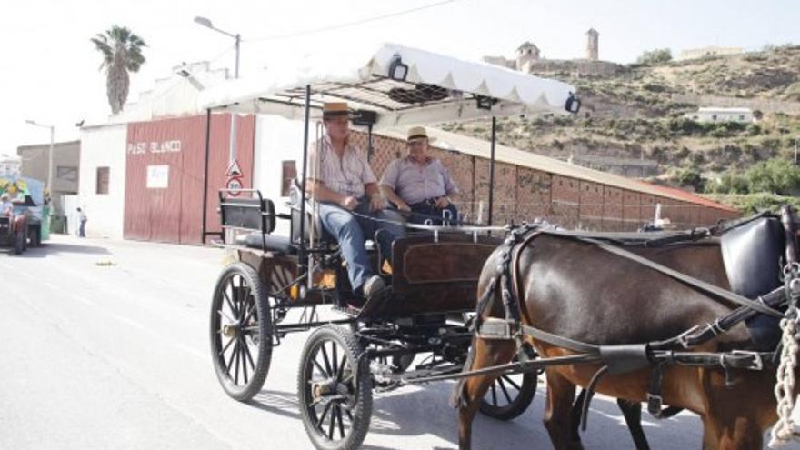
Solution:
[[(304, 161), (309, 115), (322, 101), (345, 100), (362, 120), (372, 117), (370, 133), (373, 125), (569, 114), (579, 107), (569, 85), (399, 45), (385, 45), (347, 76), (267, 84), (266, 92), (210, 103), (217, 110), (290, 117), (305, 110)], [(298, 372), (305, 428), (319, 448), (355, 448), (368, 429), (373, 388), (462, 371), (473, 337), (468, 315), (475, 311), (478, 276), (504, 229), (455, 221), (409, 225), (409, 234), (393, 246), (388, 289), (365, 301), (352, 292), (338, 246), (325, 237), (315, 205), (302, 192), (305, 164), (286, 213), (276, 213), (274, 202), (257, 191), (220, 192), (223, 227), (244, 234), (223, 234), (228, 239), (222, 245), (235, 262), (215, 287), (215, 370), (228, 395), (249, 399), (265, 382), (272, 348), (288, 333), (314, 329)], [(290, 235), (273, 234), (281, 220), (291, 224)], [(302, 313), (289, 321), (292, 311)], [(415, 361), (420, 354), (428, 357)], [(535, 388), (534, 373), (503, 375), (481, 410), (513, 418), (525, 411)]]

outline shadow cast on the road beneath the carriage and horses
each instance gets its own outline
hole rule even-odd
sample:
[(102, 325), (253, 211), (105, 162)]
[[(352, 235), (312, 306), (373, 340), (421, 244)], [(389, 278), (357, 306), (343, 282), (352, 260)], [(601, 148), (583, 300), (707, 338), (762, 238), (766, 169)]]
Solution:
[[(391, 393), (375, 395), (370, 435), (435, 435), (452, 446), (435, 446), (433, 450), (455, 450), (458, 447), (458, 430), (455, 409), (448, 400), (452, 383), (427, 387), (409, 386)], [(473, 424), (474, 448), (511, 448), (521, 442), (550, 445), (550, 438), (542, 425), (545, 388), (539, 387), (534, 403), (525, 414), (515, 420), (503, 422), (485, 415), (476, 415)], [(263, 390), (247, 405), (269, 413), (300, 420), (300, 410), (295, 393)], [(581, 434), (584, 445), (591, 448), (635, 448), (625, 419), (614, 399), (595, 398), (590, 409), (589, 429)], [(650, 444), (674, 442), (675, 435), (700, 444), (702, 426), (695, 415), (681, 414), (664, 421), (656, 421), (643, 414), (643, 426)], [(367, 438), (368, 439), (368, 438)], [(682, 444), (686, 441), (683, 440)], [(691, 446), (691, 445), (690, 445)], [(388, 447), (365, 445), (368, 450), (389, 450)]]

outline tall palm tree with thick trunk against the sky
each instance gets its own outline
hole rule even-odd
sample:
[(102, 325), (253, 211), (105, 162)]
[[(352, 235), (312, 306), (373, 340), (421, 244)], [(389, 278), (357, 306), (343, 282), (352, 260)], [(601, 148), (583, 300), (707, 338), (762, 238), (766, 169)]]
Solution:
[(147, 45), (141, 37), (131, 33), (131, 30), (117, 25), (105, 33), (98, 33), (91, 40), (97, 51), (103, 54), (100, 70), (105, 68), (105, 94), (108, 95), (111, 112), (117, 114), (122, 111), (128, 98), (128, 88), (131, 85), (128, 72), (138, 72), (145, 64), (142, 47)]

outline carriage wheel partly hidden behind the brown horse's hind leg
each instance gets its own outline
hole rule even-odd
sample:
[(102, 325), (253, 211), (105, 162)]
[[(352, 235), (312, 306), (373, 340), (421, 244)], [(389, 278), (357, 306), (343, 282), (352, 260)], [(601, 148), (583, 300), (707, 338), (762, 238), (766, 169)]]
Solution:
[(498, 420), (525, 413), (536, 395), (536, 373), (500, 375), (481, 399), (480, 411)]

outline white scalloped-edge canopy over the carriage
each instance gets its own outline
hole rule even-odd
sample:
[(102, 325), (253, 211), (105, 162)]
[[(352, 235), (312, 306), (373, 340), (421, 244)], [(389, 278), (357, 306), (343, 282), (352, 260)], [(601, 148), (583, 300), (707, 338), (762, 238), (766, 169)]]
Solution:
[(210, 87), (198, 102), (203, 109), (302, 119), (306, 85), (312, 115), (321, 115), (323, 102), (345, 101), (374, 111), (376, 127), (568, 114), (578, 107), (572, 85), (396, 44), (371, 55), (305, 56), (295, 65)]

